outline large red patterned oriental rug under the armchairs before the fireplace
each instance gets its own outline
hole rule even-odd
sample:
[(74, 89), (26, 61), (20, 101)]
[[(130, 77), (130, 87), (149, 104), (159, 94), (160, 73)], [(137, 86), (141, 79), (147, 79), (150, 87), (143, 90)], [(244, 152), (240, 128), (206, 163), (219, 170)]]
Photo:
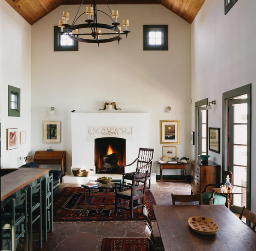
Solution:
[[(115, 191), (114, 188), (97, 188), (86, 190), (86, 204), (84, 203), (84, 188), (66, 187), (54, 197), (53, 221), (55, 222), (83, 222), (83, 221), (116, 221), (116, 220), (145, 220), (142, 208), (134, 210), (134, 219), (128, 210), (118, 209), (114, 214)], [(128, 204), (128, 203), (127, 203)], [(145, 194), (145, 205), (148, 208), (151, 220), (155, 220), (152, 205), (156, 205), (151, 192)]]

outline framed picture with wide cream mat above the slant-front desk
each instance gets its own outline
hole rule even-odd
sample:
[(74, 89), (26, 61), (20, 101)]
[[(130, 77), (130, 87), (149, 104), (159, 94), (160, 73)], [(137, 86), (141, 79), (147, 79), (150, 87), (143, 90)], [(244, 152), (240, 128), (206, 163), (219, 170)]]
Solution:
[(61, 142), (61, 122), (60, 121), (44, 121), (44, 143), (60, 143)]

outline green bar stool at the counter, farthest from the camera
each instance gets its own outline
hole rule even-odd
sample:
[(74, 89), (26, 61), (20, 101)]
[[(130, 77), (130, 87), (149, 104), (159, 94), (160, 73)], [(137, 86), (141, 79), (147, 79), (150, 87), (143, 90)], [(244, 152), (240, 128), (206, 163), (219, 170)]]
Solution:
[(44, 228), (44, 241), (47, 241), (47, 229), (53, 231), (53, 193), (52, 193), (52, 174), (45, 177), (42, 182), (42, 216)]

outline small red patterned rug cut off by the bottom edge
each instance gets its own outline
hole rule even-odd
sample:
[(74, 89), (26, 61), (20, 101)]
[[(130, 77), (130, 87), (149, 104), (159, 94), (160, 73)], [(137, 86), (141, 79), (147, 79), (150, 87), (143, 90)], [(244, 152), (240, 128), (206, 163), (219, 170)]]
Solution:
[(147, 251), (147, 238), (104, 238), (101, 251)]

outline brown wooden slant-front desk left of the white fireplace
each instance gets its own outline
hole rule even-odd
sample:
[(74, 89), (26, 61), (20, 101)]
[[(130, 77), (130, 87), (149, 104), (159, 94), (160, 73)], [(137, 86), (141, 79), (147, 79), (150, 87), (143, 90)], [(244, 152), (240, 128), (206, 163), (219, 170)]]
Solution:
[(66, 151), (36, 151), (34, 161), (38, 165), (61, 165), (62, 176), (65, 175)]

